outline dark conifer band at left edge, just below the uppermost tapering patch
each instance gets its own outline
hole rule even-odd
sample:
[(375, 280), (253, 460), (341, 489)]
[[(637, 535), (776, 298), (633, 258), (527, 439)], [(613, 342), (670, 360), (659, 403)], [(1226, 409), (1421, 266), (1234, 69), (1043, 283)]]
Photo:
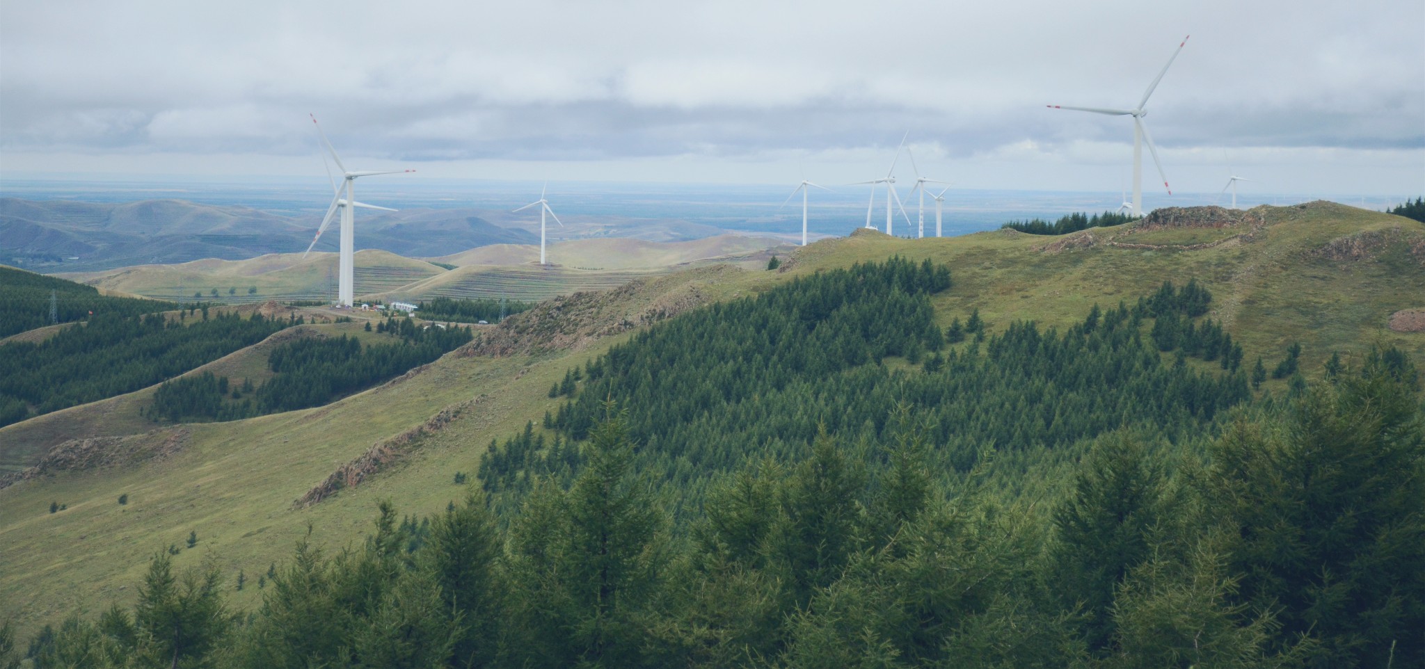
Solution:
[[(291, 325), (259, 313), (208, 319), (202, 310), (204, 319), (188, 325), (162, 315), (98, 315), (40, 343), (4, 344), (0, 418), (14, 423), (152, 386)], [(23, 414), (4, 409), (20, 403), (27, 406)]]

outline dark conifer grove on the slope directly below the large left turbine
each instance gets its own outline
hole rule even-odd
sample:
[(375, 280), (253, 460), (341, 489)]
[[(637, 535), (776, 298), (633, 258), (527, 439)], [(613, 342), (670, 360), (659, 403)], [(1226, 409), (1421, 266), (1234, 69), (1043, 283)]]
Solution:
[(342, 334), (278, 344), (268, 356), (268, 369), (275, 376), (255, 389), (248, 381), (229, 394), (228, 379), (211, 373), (165, 381), (145, 416), (171, 421), (239, 420), (322, 406), (426, 364), (470, 340), (469, 327), (422, 329), (409, 319), (390, 319), (379, 326), (395, 342), (362, 346), (359, 339)]

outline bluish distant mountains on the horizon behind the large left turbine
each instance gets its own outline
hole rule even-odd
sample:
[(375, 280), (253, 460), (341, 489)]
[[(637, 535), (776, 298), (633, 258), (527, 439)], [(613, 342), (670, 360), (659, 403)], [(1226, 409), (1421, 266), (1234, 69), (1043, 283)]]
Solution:
[[(356, 248), (422, 258), (492, 243), (539, 243), (537, 233), (475, 214), (408, 209), (362, 216)], [(94, 272), (204, 258), (239, 260), (301, 252), (315, 228), (315, 221), (180, 199), (107, 204), (0, 198), (0, 263), (37, 272)], [(336, 243), (332, 225), (316, 251), (335, 251)]]

